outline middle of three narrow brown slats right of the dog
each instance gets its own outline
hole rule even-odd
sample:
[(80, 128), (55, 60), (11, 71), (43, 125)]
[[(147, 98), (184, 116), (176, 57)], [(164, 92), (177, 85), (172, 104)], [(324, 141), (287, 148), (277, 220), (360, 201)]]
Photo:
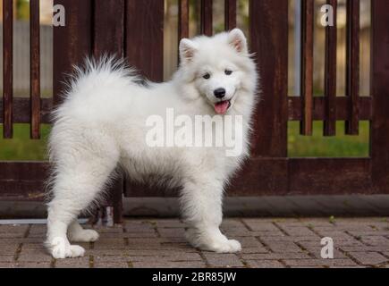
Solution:
[(325, 66), (325, 100), (326, 120), (324, 135), (336, 135), (336, 45), (337, 45), (337, 0), (327, 0), (334, 9), (334, 26), (326, 27), (326, 66)]

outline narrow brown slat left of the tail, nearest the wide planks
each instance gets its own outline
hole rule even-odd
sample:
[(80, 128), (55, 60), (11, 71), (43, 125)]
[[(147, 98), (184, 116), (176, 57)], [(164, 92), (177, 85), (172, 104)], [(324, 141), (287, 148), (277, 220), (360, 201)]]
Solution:
[(30, 137), (40, 138), (39, 0), (30, 0)]

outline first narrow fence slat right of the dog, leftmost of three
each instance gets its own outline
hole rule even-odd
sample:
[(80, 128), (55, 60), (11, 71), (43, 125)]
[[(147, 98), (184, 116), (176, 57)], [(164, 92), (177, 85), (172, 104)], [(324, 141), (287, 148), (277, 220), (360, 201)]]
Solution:
[(301, 135), (312, 135), (314, 0), (301, 2)]

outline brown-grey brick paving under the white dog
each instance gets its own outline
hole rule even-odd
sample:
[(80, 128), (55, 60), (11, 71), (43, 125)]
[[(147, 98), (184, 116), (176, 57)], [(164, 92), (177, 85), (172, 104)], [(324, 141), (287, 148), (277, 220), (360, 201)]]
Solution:
[[(222, 230), (241, 253), (190, 248), (179, 220), (147, 218), (98, 227), (100, 239), (81, 244), (85, 257), (55, 260), (42, 247), (45, 225), (0, 225), (0, 267), (389, 267), (384, 217), (231, 218)], [(334, 240), (334, 259), (321, 258), (323, 237)]]

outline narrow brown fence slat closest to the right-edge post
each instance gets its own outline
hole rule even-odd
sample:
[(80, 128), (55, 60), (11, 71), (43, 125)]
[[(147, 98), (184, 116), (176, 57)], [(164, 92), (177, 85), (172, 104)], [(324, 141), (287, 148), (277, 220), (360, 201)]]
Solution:
[(346, 96), (350, 101), (350, 117), (346, 134), (359, 134), (359, 0), (347, 1)]

